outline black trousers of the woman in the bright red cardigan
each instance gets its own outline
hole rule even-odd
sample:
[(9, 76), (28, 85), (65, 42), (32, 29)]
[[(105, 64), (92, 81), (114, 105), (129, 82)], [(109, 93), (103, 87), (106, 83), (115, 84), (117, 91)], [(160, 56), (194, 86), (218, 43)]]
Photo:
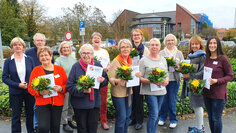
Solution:
[(36, 106), (39, 133), (60, 133), (61, 112), (63, 106)]

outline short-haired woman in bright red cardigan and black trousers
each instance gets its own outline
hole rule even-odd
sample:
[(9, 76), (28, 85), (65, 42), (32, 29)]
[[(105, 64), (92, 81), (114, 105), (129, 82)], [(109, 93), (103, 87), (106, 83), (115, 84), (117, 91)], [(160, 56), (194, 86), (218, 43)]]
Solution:
[[(48, 46), (42, 46), (38, 49), (37, 55), (42, 65), (33, 69), (28, 91), (35, 97), (38, 115), (39, 133), (60, 133), (61, 112), (64, 105), (66, 92), (66, 72), (61, 66), (52, 64), (52, 50)], [(32, 88), (32, 81), (35, 78), (53, 74), (55, 86), (53, 90), (56, 96), (45, 97), (50, 94), (50, 90), (38, 91)]]

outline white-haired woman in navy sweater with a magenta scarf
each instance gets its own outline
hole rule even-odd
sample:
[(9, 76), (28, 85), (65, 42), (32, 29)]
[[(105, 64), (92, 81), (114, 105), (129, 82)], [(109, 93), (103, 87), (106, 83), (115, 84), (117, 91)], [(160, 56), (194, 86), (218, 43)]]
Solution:
[(102, 76), (97, 78), (97, 81), (100, 82), (99, 89), (90, 88), (83, 92), (77, 91), (77, 80), (81, 75), (86, 75), (88, 65), (102, 67), (99, 62), (94, 61), (94, 51), (90, 44), (84, 44), (80, 48), (79, 54), (81, 59), (72, 66), (66, 87), (71, 95), (71, 105), (75, 113), (77, 132), (96, 133), (101, 106), (100, 88), (107, 86), (108, 77), (103, 71)]

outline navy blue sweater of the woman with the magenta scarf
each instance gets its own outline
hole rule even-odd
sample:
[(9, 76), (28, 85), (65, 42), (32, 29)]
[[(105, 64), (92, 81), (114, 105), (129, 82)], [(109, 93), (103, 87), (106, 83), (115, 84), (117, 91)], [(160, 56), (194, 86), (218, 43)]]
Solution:
[[(95, 61), (95, 66), (102, 67), (102, 65)], [(102, 77), (105, 78), (105, 80), (100, 84), (99, 89), (94, 89), (94, 101), (90, 101), (90, 94), (86, 94), (83, 92), (78, 92), (76, 89), (76, 82), (79, 78), (79, 76), (85, 75), (84, 70), (81, 68), (79, 62), (75, 63), (71, 70), (70, 74), (68, 76), (66, 88), (67, 91), (71, 95), (71, 105), (73, 108), (76, 109), (92, 109), (92, 108), (99, 108), (101, 106), (101, 94), (100, 94), (100, 88), (103, 86), (107, 86), (108, 84), (108, 77), (107, 74), (103, 71)]]

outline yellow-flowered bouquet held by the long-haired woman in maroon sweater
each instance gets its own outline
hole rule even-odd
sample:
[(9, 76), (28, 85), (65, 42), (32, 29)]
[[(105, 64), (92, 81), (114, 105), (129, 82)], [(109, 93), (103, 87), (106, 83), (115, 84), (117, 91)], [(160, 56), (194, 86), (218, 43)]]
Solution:
[(206, 81), (200, 79), (189, 80), (188, 88), (189, 91), (194, 94), (202, 94), (202, 89), (205, 86)]

